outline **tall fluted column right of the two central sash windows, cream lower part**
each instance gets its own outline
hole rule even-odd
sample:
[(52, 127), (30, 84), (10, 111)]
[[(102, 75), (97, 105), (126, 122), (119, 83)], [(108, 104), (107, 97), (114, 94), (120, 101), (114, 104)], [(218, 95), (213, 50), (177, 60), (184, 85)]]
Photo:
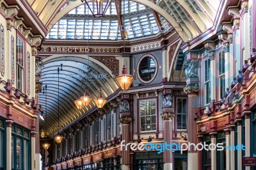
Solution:
[[(194, 121), (195, 113), (198, 107), (198, 95), (197, 93), (189, 92), (188, 94), (188, 142), (198, 143), (197, 139), (197, 126)], [(188, 169), (198, 169), (198, 151), (195, 151), (193, 146), (188, 151)]]

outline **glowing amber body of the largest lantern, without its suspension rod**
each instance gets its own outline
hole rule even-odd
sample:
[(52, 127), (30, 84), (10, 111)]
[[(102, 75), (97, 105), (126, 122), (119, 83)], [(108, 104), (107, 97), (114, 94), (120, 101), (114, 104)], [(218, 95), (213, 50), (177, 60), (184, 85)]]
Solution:
[(125, 66), (123, 67), (122, 75), (116, 76), (116, 81), (118, 82), (118, 84), (122, 90), (129, 89), (132, 84), (133, 79), (134, 79), (134, 77), (127, 73), (127, 69), (125, 68)]

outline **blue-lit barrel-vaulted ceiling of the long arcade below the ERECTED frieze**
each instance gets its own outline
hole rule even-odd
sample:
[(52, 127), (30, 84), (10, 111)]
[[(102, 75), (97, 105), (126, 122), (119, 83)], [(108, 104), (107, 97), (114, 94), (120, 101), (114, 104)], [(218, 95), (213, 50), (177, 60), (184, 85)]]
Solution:
[[(88, 62), (86, 57), (63, 56), (45, 58), (43, 61), (40, 82), (43, 83), (43, 88), (47, 85), (47, 90), (40, 93), (39, 104), (44, 109), (47, 121), (40, 120), (40, 126), (48, 134), (65, 127), (95, 106), (91, 102), (88, 107), (83, 107), (81, 110), (77, 109), (74, 100), (83, 95), (85, 90), (95, 99), (98, 97), (100, 89), (104, 97), (109, 97), (118, 89), (113, 75), (110, 74), (111, 70), (100, 66), (95, 59), (90, 58)], [(58, 74), (58, 67), (61, 69), (61, 64), (62, 70)], [(104, 75), (105, 78), (86, 79), (89, 70), (92, 75)], [(58, 113), (60, 115), (60, 127), (58, 127)]]

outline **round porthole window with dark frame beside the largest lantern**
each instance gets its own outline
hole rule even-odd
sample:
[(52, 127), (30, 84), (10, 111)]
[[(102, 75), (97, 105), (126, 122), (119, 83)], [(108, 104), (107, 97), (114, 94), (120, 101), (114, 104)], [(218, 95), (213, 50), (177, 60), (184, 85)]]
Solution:
[(141, 58), (138, 74), (142, 82), (148, 83), (154, 79), (157, 72), (156, 59), (150, 56)]

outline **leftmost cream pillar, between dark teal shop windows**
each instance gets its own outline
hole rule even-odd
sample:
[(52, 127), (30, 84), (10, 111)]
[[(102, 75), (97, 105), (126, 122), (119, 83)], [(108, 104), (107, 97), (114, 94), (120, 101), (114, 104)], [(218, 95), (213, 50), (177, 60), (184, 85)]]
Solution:
[(12, 120), (6, 120), (6, 169), (12, 169)]

